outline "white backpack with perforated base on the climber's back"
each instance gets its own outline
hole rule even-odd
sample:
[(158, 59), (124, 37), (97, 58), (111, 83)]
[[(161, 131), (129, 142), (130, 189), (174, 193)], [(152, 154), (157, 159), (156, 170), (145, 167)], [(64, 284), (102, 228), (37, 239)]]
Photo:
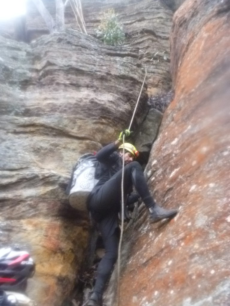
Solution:
[(78, 210), (87, 210), (87, 198), (98, 183), (98, 180), (95, 179), (97, 164), (98, 160), (94, 154), (86, 153), (78, 159), (73, 169), (67, 191), (69, 191), (70, 205)]

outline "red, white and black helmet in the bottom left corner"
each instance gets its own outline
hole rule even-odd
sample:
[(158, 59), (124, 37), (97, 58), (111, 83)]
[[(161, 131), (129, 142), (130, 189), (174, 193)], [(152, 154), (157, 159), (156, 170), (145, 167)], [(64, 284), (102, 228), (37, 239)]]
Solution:
[(35, 264), (29, 253), (14, 248), (0, 249), (0, 289), (21, 289), (32, 277)]

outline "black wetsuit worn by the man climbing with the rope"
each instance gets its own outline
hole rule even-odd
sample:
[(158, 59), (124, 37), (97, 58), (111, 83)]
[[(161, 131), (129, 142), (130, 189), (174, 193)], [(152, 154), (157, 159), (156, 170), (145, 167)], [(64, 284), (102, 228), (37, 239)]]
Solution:
[[(105, 255), (98, 265), (94, 291), (102, 293), (113, 265), (117, 260), (119, 244), (118, 213), (121, 209), (122, 159), (114, 143), (103, 147), (96, 154), (99, 165), (96, 169), (98, 184), (88, 198), (88, 208), (92, 218), (98, 223), (105, 246)], [(132, 192), (135, 186), (142, 200), (149, 208), (154, 205), (143, 170), (136, 161), (124, 168), (124, 194)]]

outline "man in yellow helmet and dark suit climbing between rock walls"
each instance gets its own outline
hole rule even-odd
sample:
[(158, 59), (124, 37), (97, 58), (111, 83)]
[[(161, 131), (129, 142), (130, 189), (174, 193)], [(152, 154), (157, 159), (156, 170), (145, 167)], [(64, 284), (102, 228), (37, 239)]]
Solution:
[[(137, 201), (140, 196), (149, 211), (150, 221), (153, 223), (164, 218), (173, 218), (177, 214), (177, 210), (167, 210), (155, 203), (149, 192), (142, 167), (139, 162), (135, 161), (139, 152), (132, 144), (124, 143), (125, 154), (123, 155), (123, 135), (127, 139), (130, 136), (130, 131), (127, 129), (121, 132), (118, 140), (103, 147), (95, 155), (99, 162), (95, 177), (99, 181), (90, 193), (87, 205), (91, 217), (97, 222), (102, 235), (105, 255), (98, 265), (95, 286), (87, 306), (102, 306), (105, 284), (117, 260), (120, 236), (118, 213), (121, 210), (123, 159), (125, 162), (124, 198), (128, 199), (128, 203)], [(131, 194), (133, 185), (139, 196)], [(130, 197), (128, 197), (129, 194), (131, 194)]]

